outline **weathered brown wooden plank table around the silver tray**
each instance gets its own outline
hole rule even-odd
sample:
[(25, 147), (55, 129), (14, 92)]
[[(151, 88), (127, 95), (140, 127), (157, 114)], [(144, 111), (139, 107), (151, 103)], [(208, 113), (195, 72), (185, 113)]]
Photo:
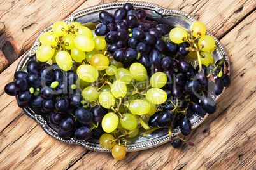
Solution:
[(111, 154), (51, 138), (17, 107), (14, 97), (4, 93), (5, 84), (13, 81), (18, 57), (41, 30), (75, 11), (110, 2), (113, 0), (0, 1), (0, 169), (256, 169), (253, 0), (145, 1), (185, 11), (204, 22), (232, 54), (231, 86), (218, 100), (217, 112), (185, 138), (195, 147), (184, 144), (174, 149), (166, 143), (130, 152), (118, 161)]

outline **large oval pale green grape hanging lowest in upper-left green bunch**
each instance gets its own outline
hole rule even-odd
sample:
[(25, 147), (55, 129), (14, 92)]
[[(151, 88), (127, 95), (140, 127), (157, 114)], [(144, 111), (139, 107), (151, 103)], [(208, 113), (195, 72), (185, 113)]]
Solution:
[(60, 69), (64, 71), (68, 71), (73, 66), (73, 60), (71, 58), (71, 55), (67, 51), (59, 51), (56, 54), (56, 62), (57, 65), (59, 65)]

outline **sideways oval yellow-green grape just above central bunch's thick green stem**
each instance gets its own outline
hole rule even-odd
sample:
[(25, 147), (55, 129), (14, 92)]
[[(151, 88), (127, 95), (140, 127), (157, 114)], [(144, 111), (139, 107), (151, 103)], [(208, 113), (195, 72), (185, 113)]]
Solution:
[(144, 115), (150, 111), (150, 105), (145, 100), (132, 100), (129, 105), (129, 110), (132, 112), (132, 114)]

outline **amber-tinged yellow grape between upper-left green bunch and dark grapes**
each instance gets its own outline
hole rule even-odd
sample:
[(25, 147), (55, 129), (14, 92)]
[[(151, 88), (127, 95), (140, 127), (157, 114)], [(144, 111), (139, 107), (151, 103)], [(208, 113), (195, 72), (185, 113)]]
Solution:
[(108, 60), (108, 57), (101, 54), (94, 55), (90, 58), (90, 65), (99, 71), (105, 70), (109, 64), (110, 61)]

